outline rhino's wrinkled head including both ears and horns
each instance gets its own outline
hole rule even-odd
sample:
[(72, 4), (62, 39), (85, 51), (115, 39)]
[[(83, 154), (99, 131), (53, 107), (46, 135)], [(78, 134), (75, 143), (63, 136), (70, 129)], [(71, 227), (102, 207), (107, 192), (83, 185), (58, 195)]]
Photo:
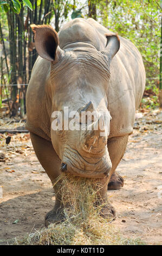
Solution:
[(112, 168), (107, 150), (109, 66), (119, 50), (119, 38), (106, 34), (103, 51), (86, 41), (70, 42), (61, 49), (52, 27), (31, 27), (38, 54), (50, 62), (46, 94), (51, 108), (51, 142), (61, 159), (61, 170), (105, 178)]

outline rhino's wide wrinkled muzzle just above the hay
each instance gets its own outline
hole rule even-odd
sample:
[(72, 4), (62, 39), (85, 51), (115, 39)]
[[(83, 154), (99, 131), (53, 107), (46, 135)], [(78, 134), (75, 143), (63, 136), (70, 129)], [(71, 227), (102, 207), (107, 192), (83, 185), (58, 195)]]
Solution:
[(76, 150), (65, 151), (62, 158), (61, 170), (76, 176), (85, 178), (106, 178), (112, 168), (109, 156), (105, 156), (94, 160), (87, 161)]

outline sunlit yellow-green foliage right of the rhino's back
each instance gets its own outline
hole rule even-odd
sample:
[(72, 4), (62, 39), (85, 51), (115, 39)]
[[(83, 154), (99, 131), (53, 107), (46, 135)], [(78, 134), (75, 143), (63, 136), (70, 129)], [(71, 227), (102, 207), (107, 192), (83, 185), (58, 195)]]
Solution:
[[(92, 2), (92, 0), (91, 0)], [(156, 90), (159, 80), (159, 50), (161, 9), (158, 0), (93, 0), (98, 20), (103, 26), (133, 42), (144, 61), (146, 88)], [(157, 92), (158, 93), (158, 92)], [(150, 106), (158, 105), (158, 97), (151, 98)], [(148, 106), (148, 105), (147, 105)]]

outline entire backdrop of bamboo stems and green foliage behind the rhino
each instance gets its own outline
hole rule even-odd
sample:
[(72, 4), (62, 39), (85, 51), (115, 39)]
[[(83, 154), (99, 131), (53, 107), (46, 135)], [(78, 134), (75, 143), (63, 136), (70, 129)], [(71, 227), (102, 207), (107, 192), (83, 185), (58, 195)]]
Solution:
[[(158, 0), (0, 0), (0, 110), (11, 116), (25, 113), (25, 92), (37, 57), (30, 24), (52, 24), (93, 17), (108, 29), (131, 40), (142, 54), (146, 90), (141, 106), (158, 106), (161, 8)], [(16, 84), (16, 86), (7, 86)], [(17, 85), (18, 84), (18, 85)]]

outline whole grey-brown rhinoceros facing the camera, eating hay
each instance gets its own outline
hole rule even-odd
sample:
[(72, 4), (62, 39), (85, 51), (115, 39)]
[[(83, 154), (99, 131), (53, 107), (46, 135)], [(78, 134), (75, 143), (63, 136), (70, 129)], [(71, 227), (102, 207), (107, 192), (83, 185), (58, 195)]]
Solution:
[[(27, 90), (26, 127), (36, 156), (52, 184), (62, 172), (93, 178), (102, 184), (101, 196), (107, 200), (107, 190), (124, 185), (115, 169), (144, 93), (142, 57), (131, 41), (91, 18), (74, 19), (59, 34), (51, 26), (31, 28), (39, 56)], [(68, 113), (79, 113), (75, 121), (84, 129), (64, 127), (55, 113), (64, 116), (65, 108)], [(83, 112), (93, 112), (91, 123), (80, 118)], [(54, 120), (62, 129), (53, 129)], [(94, 129), (99, 121), (102, 129)], [(61, 221), (60, 201), (56, 196), (46, 225)], [(107, 205), (105, 216), (114, 217), (108, 200)]]

